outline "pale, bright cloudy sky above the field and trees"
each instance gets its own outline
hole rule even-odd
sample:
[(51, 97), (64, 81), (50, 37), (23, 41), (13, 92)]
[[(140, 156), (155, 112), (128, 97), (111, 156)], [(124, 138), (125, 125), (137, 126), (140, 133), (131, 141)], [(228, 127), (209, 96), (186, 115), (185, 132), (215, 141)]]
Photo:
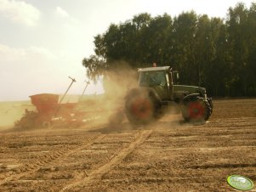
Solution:
[[(81, 94), (88, 77), (82, 59), (94, 54), (94, 37), (134, 15), (194, 10), (226, 17), (228, 8), (252, 0), (0, 0), (0, 101), (37, 93)], [(254, 1), (255, 2), (255, 1)], [(104, 93), (101, 83), (85, 93)]]

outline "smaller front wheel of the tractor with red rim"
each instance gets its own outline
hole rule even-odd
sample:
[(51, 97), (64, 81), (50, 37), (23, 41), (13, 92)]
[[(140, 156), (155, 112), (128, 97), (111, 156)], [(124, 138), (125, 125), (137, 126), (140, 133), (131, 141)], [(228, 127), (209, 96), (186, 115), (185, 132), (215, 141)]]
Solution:
[(182, 109), (182, 116), (185, 121), (207, 121), (211, 116), (212, 108), (207, 100), (197, 97), (184, 104)]

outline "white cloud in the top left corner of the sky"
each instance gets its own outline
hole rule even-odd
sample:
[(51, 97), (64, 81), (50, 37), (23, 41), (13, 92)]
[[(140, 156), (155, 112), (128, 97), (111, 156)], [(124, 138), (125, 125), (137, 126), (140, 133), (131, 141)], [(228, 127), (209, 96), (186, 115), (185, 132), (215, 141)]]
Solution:
[(29, 3), (16, 0), (0, 0), (0, 13), (15, 23), (33, 26), (40, 19), (40, 11)]

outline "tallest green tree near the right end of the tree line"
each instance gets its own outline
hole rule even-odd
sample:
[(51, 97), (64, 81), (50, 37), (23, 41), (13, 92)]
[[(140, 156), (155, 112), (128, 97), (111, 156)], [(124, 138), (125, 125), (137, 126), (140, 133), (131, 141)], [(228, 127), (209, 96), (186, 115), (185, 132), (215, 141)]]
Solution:
[(238, 3), (235, 8), (229, 8), (227, 21), (230, 43), (230, 95), (247, 95), (247, 59), (249, 57), (248, 41), (248, 9), (243, 3)]

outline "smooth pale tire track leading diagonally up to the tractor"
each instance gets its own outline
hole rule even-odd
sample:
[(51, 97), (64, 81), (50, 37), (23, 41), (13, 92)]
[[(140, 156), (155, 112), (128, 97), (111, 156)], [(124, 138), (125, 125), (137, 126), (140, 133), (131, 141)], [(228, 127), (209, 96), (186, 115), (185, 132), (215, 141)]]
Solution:
[(67, 184), (60, 191), (63, 192), (68, 189), (72, 189), (79, 184), (90, 184), (94, 180), (100, 179), (106, 172), (109, 172), (112, 167), (116, 167), (120, 161), (122, 161), (127, 155), (129, 155), (132, 151), (134, 151), (137, 146), (143, 144), (147, 138), (151, 136), (153, 130), (143, 130), (137, 133), (134, 141), (132, 141), (127, 148), (121, 150), (117, 155), (112, 157), (105, 165), (99, 167), (93, 172), (87, 173), (85, 172), (84, 176), (80, 175), (77, 177), (77, 180), (73, 181), (71, 184)]

